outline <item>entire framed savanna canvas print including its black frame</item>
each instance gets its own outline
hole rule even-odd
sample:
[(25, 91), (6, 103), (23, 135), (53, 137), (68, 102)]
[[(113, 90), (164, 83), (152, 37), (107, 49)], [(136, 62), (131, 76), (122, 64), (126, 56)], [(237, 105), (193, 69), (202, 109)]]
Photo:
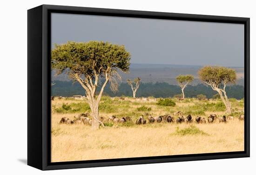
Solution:
[(249, 156), (249, 18), (28, 10), (28, 165)]

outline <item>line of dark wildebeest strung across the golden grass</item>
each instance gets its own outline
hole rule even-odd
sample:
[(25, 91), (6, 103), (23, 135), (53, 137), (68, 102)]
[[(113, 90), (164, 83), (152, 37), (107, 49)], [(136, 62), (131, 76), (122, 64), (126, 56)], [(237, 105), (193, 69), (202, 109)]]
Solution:
[[(135, 124), (136, 125), (145, 125), (147, 123), (161, 123), (161, 122), (168, 122), (168, 123), (193, 123), (192, 116), (189, 114), (187, 117), (184, 117), (182, 112), (177, 112), (174, 113), (177, 115), (177, 118), (175, 120), (174, 116), (171, 116), (169, 114), (159, 116), (159, 117), (153, 117), (152, 115), (148, 115), (148, 120), (144, 118), (143, 115), (141, 115), (138, 119), (136, 119)], [(214, 121), (219, 121), (219, 123), (223, 122), (226, 123), (227, 120), (233, 120), (233, 116), (228, 116), (226, 117), (225, 115), (223, 116), (217, 116), (216, 114), (210, 114), (210, 116), (207, 118), (208, 123), (213, 123)], [(244, 120), (244, 115), (239, 116), (240, 120)], [(122, 117), (121, 119), (115, 117), (114, 115), (110, 116), (108, 119), (101, 117), (100, 121), (103, 123), (106, 122), (112, 122), (112, 123), (125, 123), (125, 122), (130, 122), (133, 123), (131, 117), (126, 116)], [(204, 117), (197, 116), (195, 118), (195, 122), (197, 124), (206, 124), (206, 119)], [(84, 125), (92, 125), (92, 119), (89, 118), (89, 113), (82, 113), (78, 116), (74, 116), (74, 119), (68, 119), (66, 117), (62, 117), (60, 124), (84, 124)]]

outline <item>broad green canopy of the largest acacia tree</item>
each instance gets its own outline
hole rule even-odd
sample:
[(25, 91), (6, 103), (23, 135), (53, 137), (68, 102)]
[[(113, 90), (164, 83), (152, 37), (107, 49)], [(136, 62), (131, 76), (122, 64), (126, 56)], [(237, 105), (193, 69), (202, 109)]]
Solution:
[(68, 74), (105, 76), (106, 72), (120, 69), (128, 72), (130, 53), (124, 45), (116, 45), (103, 41), (88, 43), (67, 42), (55, 44), (52, 50), (52, 68), (61, 74), (68, 69)]

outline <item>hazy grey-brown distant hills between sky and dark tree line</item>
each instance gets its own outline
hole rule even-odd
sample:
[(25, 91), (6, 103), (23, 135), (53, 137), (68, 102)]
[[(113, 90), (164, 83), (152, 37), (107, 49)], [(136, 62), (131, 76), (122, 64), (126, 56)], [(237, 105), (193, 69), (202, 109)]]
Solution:
[[(130, 65), (130, 73), (124, 74), (120, 72), (122, 77), (121, 82), (126, 82), (127, 79), (134, 79), (136, 77), (141, 78), (143, 83), (156, 83), (166, 82), (171, 85), (177, 85), (175, 77), (180, 74), (191, 74), (194, 75), (195, 80), (191, 83), (192, 85), (201, 84), (202, 81), (198, 79), (197, 72), (202, 66), (194, 65), (171, 65), (171, 64), (135, 64)], [(232, 67), (236, 70), (237, 85), (244, 86), (244, 68)], [(52, 81), (71, 81), (66, 74), (55, 75), (52, 71)], [(120, 83), (121, 83), (120, 82)]]

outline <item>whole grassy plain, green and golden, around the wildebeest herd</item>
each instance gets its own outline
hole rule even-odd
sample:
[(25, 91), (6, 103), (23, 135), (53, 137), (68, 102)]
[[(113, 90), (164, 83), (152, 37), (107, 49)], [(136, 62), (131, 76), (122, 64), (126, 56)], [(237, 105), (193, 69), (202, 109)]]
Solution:
[[(123, 100), (125, 99), (125, 100)], [(133, 123), (105, 123), (108, 127), (91, 130), (89, 125), (59, 124), (62, 117), (74, 119), (81, 113), (90, 113), (86, 100), (63, 98), (52, 100), (51, 161), (80, 161), (113, 159), (141, 156), (165, 156), (199, 154), (244, 150), (244, 122), (238, 119), (244, 112), (244, 101), (230, 99), (234, 120), (212, 124), (148, 123), (135, 125), (135, 120), (148, 114), (153, 117), (182, 111), (207, 117), (210, 114), (222, 116), (225, 106), (222, 101), (197, 100), (195, 98), (177, 100), (175, 106), (160, 106), (153, 97), (147, 100), (130, 97), (111, 98), (103, 96), (99, 106), (100, 117), (118, 118), (129, 116)], [(148, 119), (147, 119), (148, 120)]]

